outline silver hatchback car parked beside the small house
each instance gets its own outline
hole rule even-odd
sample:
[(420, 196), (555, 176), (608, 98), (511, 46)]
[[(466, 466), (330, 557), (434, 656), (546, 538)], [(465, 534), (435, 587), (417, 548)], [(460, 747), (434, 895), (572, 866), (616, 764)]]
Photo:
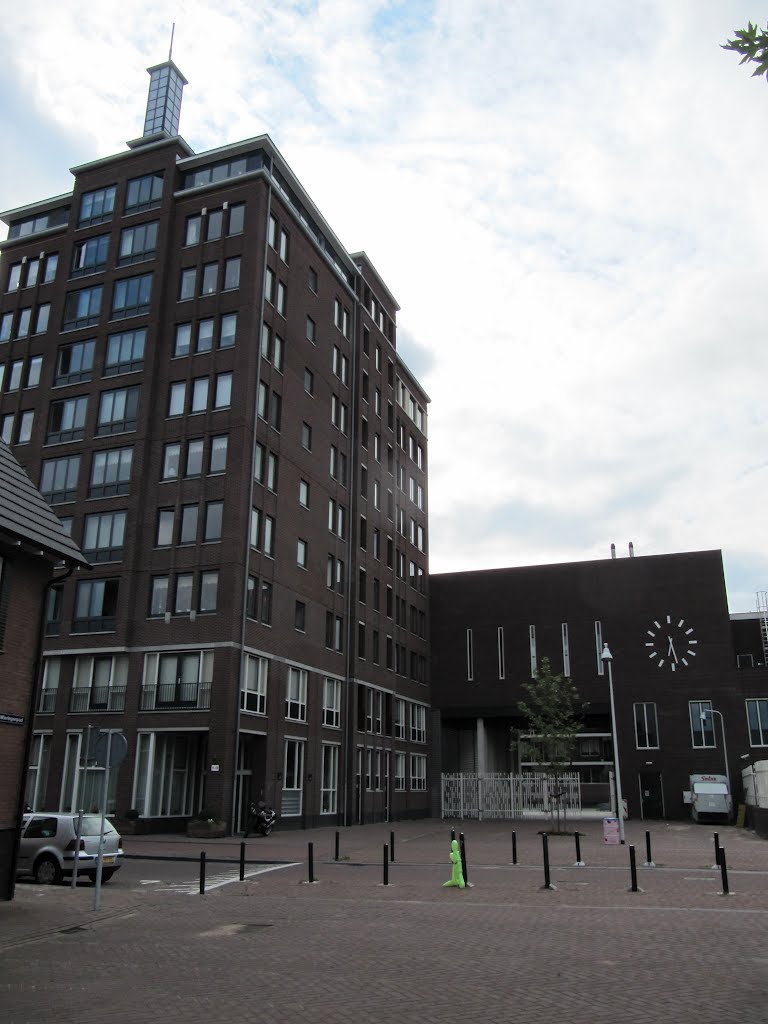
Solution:
[[(18, 846), (16, 874), (32, 874), (40, 885), (54, 885), (72, 876), (77, 846), (77, 814), (25, 814)], [(96, 861), (101, 830), (100, 814), (84, 814), (80, 830), (78, 877), (96, 881)], [(123, 860), (122, 841), (110, 820), (104, 821), (101, 881), (109, 882)]]

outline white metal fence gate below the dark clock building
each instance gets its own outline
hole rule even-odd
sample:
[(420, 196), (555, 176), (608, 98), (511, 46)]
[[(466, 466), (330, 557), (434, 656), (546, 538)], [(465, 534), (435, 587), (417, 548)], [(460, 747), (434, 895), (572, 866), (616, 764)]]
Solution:
[(581, 811), (578, 772), (556, 779), (539, 772), (458, 772), (441, 776), (443, 818), (522, 818)]

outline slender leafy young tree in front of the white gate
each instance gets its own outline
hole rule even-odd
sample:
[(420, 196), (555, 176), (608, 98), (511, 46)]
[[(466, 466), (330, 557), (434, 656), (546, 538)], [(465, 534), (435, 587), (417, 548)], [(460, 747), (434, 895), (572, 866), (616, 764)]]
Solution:
[[(526, 761), (532, 761), (539, 771), (549, 777), (556, 792), (558, 779), (573, 760), (575, 737), (582, 728), (587, 703), (579, 696), (571, 681), (552, 672), (548, 657), (536, 678), (522, 684), (527, 700), (521, 700), (520, 711), (527, 719), (530, 735), (520, 738), (520, 751)], [(555, 802), (550, 804), (554, 818)], [(559, 803), (557, 804), (559, 826)]]

